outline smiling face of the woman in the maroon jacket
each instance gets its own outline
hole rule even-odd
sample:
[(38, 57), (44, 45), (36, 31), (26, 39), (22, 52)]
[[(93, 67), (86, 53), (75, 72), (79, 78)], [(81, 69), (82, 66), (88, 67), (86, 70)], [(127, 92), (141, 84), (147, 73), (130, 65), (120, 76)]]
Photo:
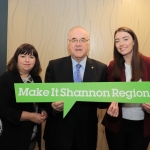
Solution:
[(132, 36), (124, 31), (117, 32), (115, 35), (115, 46), (123, 56), (132, 56), (134, 41)]

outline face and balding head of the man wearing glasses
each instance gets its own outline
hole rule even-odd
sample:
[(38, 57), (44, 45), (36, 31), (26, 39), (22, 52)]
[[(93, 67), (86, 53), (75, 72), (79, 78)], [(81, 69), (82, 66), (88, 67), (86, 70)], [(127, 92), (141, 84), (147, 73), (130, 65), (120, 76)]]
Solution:
[(82, 28), (75, 28), (68, 35), (68, 50), (77, 61), (82, 61), (89, 50), (89, 35)]

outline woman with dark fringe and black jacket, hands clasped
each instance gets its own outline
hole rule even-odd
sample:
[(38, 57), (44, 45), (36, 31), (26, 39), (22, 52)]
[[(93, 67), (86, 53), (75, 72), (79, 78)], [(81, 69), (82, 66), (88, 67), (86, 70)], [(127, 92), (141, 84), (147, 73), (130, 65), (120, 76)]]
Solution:
[(16, 103), (14, 91), (14, 83), (41, 83), (40, 72), (36, 49), (22, 44), (0, 76), (0, 149), (34, 149), (37, 139), (41, 140), (40, 124), (47, 113), (38, 104)]

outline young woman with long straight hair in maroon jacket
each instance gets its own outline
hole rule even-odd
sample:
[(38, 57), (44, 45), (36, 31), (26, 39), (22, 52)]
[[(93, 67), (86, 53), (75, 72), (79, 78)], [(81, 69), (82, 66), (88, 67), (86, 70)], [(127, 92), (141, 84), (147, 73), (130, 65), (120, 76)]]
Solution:
[[(150, 58), (139, 53), (135, 33), (121, 27), (114, 34), (114, 60), (107, 70), (108, 82), (150, 81)], [(147, 150), (150, 136), (150, 104), (112, 102), (104, 116), (110, 150)]]

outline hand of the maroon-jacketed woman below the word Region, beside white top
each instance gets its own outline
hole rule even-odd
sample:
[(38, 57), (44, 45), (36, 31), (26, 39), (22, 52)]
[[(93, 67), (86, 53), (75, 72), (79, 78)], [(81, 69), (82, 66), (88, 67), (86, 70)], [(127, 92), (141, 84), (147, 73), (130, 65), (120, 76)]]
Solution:
[(119, 107), (118, 102), (112, 102), (107, 110), (107, 114), (112, 117), (118, 117), (119, 115)]

